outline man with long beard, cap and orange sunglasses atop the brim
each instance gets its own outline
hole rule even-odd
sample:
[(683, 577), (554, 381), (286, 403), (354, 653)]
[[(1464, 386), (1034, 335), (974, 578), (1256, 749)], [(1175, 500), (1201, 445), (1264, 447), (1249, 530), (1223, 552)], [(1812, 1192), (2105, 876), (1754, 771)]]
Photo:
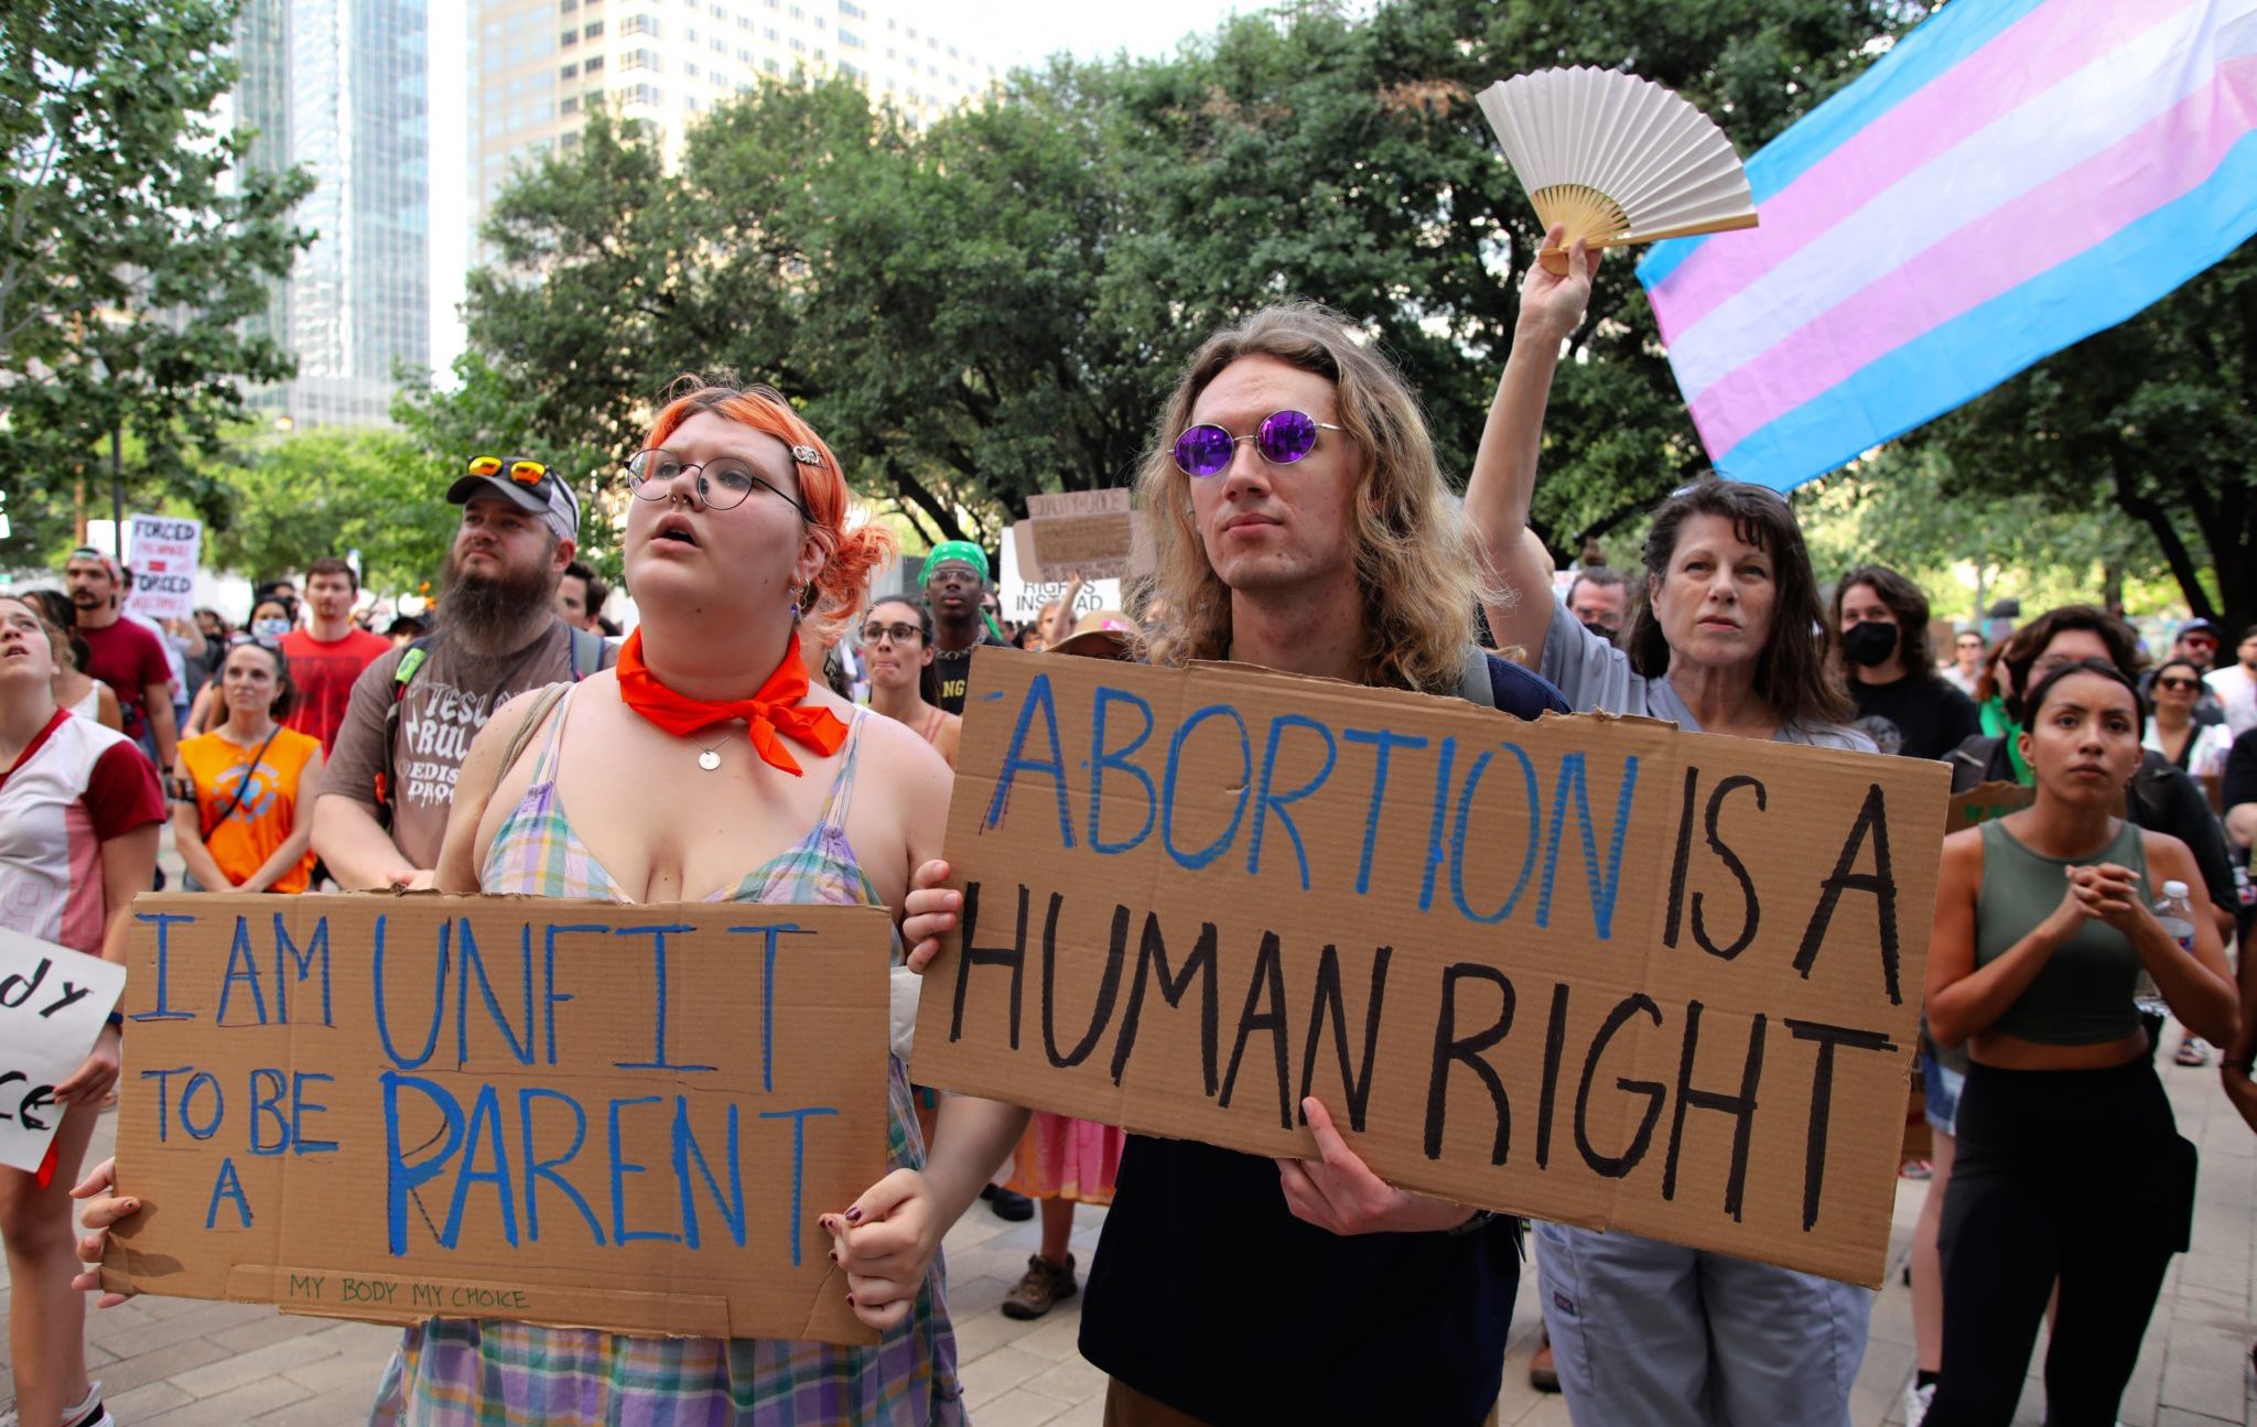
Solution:
[(314, 804), (314, 851), (345, 887), (429, 887), (463, 754), (488, 716), (612, 662), (598, 634), (557, 614), (580, 537), (580, 497), (560, 472), (472, 456), (447, 499), (463, 524), (438, 623), (361, 671)]

